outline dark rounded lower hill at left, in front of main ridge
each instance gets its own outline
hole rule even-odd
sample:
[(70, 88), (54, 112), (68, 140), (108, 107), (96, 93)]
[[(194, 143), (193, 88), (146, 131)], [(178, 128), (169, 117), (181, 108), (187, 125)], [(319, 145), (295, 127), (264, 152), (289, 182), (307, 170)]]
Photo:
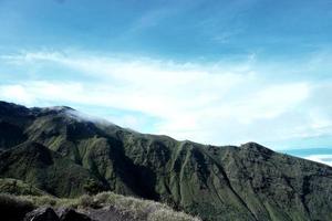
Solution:
[(0, 175), (24, 180), (54, 196), (82, 194), (87, 180), (98, 183), (89, 170), (30, 141), (0, 154)]

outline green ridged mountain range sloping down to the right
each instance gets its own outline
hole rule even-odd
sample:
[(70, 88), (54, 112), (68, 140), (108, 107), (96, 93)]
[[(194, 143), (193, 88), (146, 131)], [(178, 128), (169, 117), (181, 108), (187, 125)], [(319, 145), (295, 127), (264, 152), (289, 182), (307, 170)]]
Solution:
[(332, 220), (332, 168), (259, 144), (200, 145), (0, 103), (0, 177), (56, 197), (111, 190), (203, 220)]

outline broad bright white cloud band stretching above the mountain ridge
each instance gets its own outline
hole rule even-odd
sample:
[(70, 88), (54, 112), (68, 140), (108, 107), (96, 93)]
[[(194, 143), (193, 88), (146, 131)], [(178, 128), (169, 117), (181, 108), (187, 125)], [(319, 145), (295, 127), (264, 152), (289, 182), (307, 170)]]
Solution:
[[(28, 52), (2, 56), (2, 61), (27, 69), (48, 64), (41, 69), (44, 72), (62, 66), (77, 77), (0, 85), (1, 99), (30, 106), (65, 103), (139, 112), (159, 119), (151, 133), (179, 139), (239, 144), (332, 134), (328, 113), (332, 108), (326, 109), (325, 99), (317, 99), (321, 83), (271, 81), (256, 69), (251, 56), (231, 65), (74, 52)], [(324, 90), (332, 92), (332, 86), (324, 83)], [(114, 123), (138, 129), (142, 122), (131, 115)]]

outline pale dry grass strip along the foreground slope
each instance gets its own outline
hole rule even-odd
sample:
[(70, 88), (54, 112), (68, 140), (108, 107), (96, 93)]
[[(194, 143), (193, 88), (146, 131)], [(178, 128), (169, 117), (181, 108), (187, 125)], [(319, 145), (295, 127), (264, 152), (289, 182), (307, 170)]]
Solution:
[(95, 196), (84, 194), (76, 199), (55, 198), (51, 196), (19, 196), (0, 194), (0, 207), (2, 204), (19, 204), (23, 207), (52, 207), (73, 208), (85, 210), (89, 208), (101, 209), (114, 207), (123, 214), (131, 214), (135, 220), (146, 221), (200, 221), (199, 218), (190, 217), (184, 212), (174, 211), (170, 207), (133, 197), (124, 197), (113, 192), (101, 192)]

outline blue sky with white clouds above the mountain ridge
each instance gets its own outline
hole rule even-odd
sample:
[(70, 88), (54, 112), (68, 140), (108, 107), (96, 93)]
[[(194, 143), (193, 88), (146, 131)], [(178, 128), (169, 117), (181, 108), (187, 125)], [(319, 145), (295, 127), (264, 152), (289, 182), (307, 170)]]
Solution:
[(332, 0), (0, 0), (0, 99), (332, 165)]

